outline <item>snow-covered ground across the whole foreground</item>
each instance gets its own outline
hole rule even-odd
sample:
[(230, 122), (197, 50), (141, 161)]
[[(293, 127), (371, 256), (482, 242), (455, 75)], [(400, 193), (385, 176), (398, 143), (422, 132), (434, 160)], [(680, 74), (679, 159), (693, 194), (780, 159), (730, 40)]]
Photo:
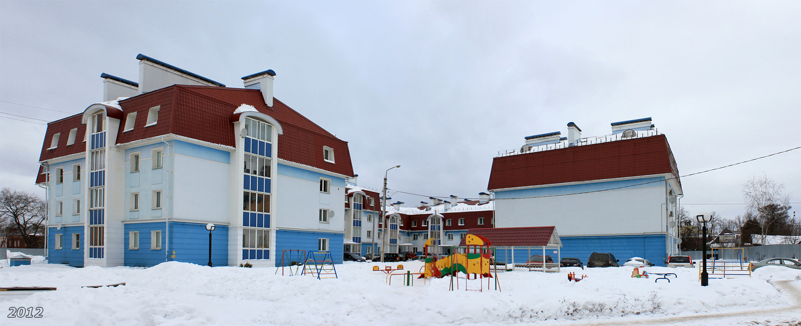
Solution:
[[(405, 262), (418, 272), (421, 262)], [(413, 287), (400, 277), (352, 263), (336, 265), (339, 279), (281, 276), (276, 268), (208, 268), (170, 262), (153, 268), (70, 268), (33, 264), (0, 268), (0, 287), (40, 286), (57, 291), (0, 302), (42, 307), (43, 318), (5, 318), (11, 324), (801, 324), (801, 298), (775, 286), (801, 288), (801, 271), (759, 268), (754, 276), (698, 283), (695, 268), (562, 268), (559, 273), (498, 273), (502, 291), (448, 291), (449, 278)], [(393, 264), (393, 266), (396, 264)], [(287, 271), (288, 272), (288, 271)], [(588, 277), (567, 280), (567, 272)], [(675, 272), (670, 283), (653, 273)], [(81, 286), (117, 284), (117, 288)], [(772, 284), (771, 284), (772, 283)], [(469, 280), (469, 288), (478, 288)], [(491, 286), (494, 288), (494, 286)], [(779, 288), (777, 290), (777, 288)], [(798, 310), (798, 313), (795, 312)], [(747, 312), (751, 312), (749, 315)], [(693, 319), (714, 314), (715, 318)], [(679, 317), (679, 320), (670, 320)], [(685, 318), (683, 320), (682, 318)], [(668, 318), (668, 319), (666, 319)]]

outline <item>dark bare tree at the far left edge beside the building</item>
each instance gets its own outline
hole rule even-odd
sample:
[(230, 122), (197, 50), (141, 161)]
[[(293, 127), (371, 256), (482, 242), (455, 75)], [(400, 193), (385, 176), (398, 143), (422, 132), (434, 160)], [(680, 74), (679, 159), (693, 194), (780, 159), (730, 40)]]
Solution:
[(26, 191), (12, 191), (8, 187), (0, 191), (0, 219), (4, 222), (2, 224), (7, 225), (6, 230), (16, 230), (27, 248), (34, 248), (35, 235), (44, 227), (42, 224), (45, 216), (45, 202), (38, 195)]

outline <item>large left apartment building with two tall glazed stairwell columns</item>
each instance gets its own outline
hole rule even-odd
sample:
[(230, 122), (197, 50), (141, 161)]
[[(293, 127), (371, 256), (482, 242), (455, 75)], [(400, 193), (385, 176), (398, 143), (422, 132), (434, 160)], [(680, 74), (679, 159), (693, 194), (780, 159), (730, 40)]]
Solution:
[(341, 262), (348, 143), (272, 97), (139, 54), (139, 82), (102, 74), (104, 99), (48, 124), (37, 183), (48, 260), (72, 266), (275, 266), (284, 249)]

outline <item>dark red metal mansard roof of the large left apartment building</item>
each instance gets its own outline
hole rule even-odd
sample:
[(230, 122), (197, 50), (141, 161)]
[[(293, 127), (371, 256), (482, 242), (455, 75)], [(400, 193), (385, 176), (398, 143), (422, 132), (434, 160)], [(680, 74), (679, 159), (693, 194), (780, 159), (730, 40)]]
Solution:
[[(183, 135), (208, 143), (224, 146), (235, 146), (234, 125), (230, 118), (237, 107), (248, 104), (256, 110), (276, 119), (284, 131), (278, 136), (278, 157), (290, 162), (317, 167), (340, 175), (353, 175), (353, 167), (348, 150), (348, 143), (337, 139), (316, 123), (306, 119), (279, 100), (273, 100), (273, 106), (267, 107), (259, 90), (227, 87), (203, 87), (173, 85), (157, 91), (138, 95), (120, 101), (123, 107), (123, 120), (119, 123), (119, 132), (115, 143), (130, 143), (135, 140), (158, 137), (160, 135)], [(151, 107), (160, 106), (159, 122), (151, 127), (144, 127)], [(127, 115), (137, 112), (134, 129), (123, 132)], [(81, 115), (74, 115), (58, 122), (50, 123), (42, 145), (40, 160), (53, 159), (85, 151), (85, 147), (66, 144), (65, 132), (78, 127), (78, 138), (83, 140), (86, 125), (81, 124)], [(59, 146), (55, 150), (46, 151), (50, 139), (56, 132), (62, 132)], [(76, 141), (76, 145), (77, 145)], [(323, 159), (323, 147), (334, 149), (336, 163), (328, 163)], [(80, 147), (80, 148), (75, 148)]]

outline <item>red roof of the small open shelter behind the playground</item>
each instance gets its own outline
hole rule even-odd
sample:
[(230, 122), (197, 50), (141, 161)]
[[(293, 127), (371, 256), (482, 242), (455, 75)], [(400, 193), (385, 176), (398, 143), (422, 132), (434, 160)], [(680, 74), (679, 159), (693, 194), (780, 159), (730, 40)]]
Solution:
[[(497, 227), (472, 228), (469, 235), (481, 235), (492, 243), (493, 247), (534, 247), (548, 245), (556, 227)], [(465, 245), (461, 239), (460, 246)]]

